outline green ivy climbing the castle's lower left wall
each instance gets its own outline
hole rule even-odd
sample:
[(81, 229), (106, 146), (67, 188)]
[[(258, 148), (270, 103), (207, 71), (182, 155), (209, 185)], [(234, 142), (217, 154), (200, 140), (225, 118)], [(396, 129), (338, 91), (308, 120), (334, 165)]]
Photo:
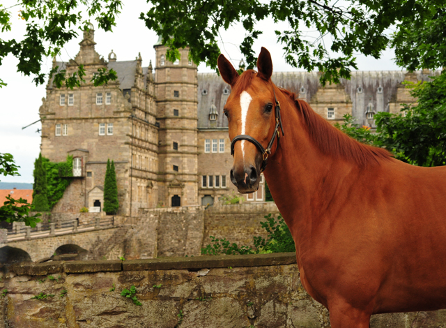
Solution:
[(43, 167), (47, 172), (47, 197), (51, 210), (61, 200), (66, 188), (70, 185), (72, 177), (72, 156), (68, 155), (65, 162), (54, 163), (48, 158), (43, 158)]

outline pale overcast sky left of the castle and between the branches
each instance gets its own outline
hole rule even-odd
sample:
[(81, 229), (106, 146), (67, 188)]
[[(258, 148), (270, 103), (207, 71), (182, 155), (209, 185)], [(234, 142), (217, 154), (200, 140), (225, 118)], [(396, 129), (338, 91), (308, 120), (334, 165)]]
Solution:
[[(8, 7), (16, 1), (2, 1)], [(3, 40), (10, 38), (22, 39), (25, 31), (24, 21), (20, 20), (15, 12), (20, 8), (13, 8), (13, 31), (1, 33)], [(113, 33), (105, 33), (102, 30), (95, 31), (96, 51), (107, 59), (111, 50), (114, 50), (118, 61), (132, 60), (141, 52), (143, 66), (148, 66), (149, 60), (155, 66), (155, 50), (153, 45), (157, 41), (155, 32), (149, 31), (142, 20), (139, 20), (139, 13), (147, 11), (148, 4), (144, 0), (125, 1), (121, 15), (118, 17)], [(97, 24), (94, 24), (97, 27)], [(260, 29), (263, 35), (254, 43), (254, 50), (258, 53), (260, 48), (266, 47), (272, 55), (275, 71), (292, 71), (292, 68), (283, 58), (283, 51), (276, 43), (275, 29), (284, 29), (286, 24), (272, 27), (271, 22), (262, 22)], [(238, 45), (243, 40), (244, 34), (240, 27), (233, 27), (229, 31), (222, 32), (220, 49), (224, 55), (232, 59), (233, 65), (238, 67), (242, 59)], [(78, 43), (82, 40), (82, 33), (79, 33), (77, 40), (72, 40), (62, 50), (58, 61), (68, 61), (74, 58), (79, 52)], [(357, 64), (360, 70), (401, 70), (394, 64), (393, 52), (387, 50), (381, 59), (357, 57)], [(32, 77), (26, 77), (17, 73), (17, 59), (12, 56), (6, 57), (0, 66), (0, 77), (3, 82), (8, 83), (7, 87), (0, 89), (0, 153), (10, 153), (15, 157), (17, 165), (20, 165), (20, 177), (0, 177), (0, 181), (8, 182), (33, 182), (33, 163), (40, 151), (40, 133), (36, 133), (41, 128), (40, 122), (33, 124), (29, 128), (22, 130), (23, 126), (38, 121), (38, 110), (42, 105), (42, 98), (46, 96), (45, 85), (36, 87)], [(49, 72), (52, 66), (52, 59), (46, 59), (43, 71)], [(199, 73), (210, 72), (210, 68), (199, 66)]]

